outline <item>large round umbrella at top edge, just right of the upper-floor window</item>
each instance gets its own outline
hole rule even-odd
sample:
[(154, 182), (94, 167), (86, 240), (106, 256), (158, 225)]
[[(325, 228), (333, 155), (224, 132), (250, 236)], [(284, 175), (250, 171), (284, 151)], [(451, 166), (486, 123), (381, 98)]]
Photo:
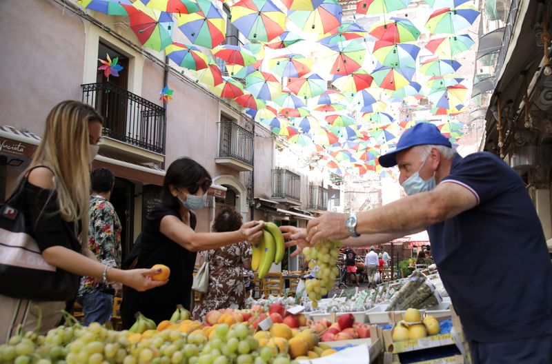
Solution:
[(241, 0), (231, 8), (233, 25), (251, 41), (271, 41), (286, 30), (286, 14), (270, 0)]

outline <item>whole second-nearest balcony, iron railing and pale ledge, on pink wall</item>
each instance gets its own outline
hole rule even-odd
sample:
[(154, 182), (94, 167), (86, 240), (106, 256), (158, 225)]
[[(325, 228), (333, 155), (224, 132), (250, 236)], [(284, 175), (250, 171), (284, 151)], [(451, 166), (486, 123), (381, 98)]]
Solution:
[(219, 156), (215, 163), (234, 170), (253, 170), (253, 132), (233, 121), (221, 121)]

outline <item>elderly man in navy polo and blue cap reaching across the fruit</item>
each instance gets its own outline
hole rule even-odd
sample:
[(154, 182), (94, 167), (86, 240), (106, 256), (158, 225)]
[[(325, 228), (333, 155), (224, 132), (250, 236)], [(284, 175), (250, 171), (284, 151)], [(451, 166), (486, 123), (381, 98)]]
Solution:
[(358, 214), (323, 214), (306, 231), (282, 228), (291, 244), (380, 244), (427, 230), (473, 362), (552, 363), (552, 263), (520, 176), (488, 152), (462, 158), (431, 123), (406, 130), (380, 164), (398, 166), (409, 196)]

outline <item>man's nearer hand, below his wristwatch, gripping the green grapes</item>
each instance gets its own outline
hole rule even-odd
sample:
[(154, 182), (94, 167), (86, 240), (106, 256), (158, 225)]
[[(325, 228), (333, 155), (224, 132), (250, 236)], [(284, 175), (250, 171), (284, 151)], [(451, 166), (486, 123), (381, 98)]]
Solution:
[(337, 212), (326, 212), (322, 216), (308, 221), (306, 225), (306, 241), (311, 245), (319, 240), (342, 240), (350, 236), (345, 227), (345, 220), (348, 214), (338, 214)]

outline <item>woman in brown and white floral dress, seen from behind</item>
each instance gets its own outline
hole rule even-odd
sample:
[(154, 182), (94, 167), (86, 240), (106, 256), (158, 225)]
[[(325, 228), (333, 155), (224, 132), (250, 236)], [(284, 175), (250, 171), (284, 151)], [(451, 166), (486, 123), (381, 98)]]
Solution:
[[(242, 215), (224, 208), (213, 223), (213, 232), (227, 232), (242, 226)], [(251, 267), (251, 248), (246, 241), (205, 252), (209, 260), (209, 290), (194, 307), (193, 316), (201, 319), (210, 310), (243, 308), (246, 299), (244, 268)], [(205, 255), (204, 255), (205, 258)]]

